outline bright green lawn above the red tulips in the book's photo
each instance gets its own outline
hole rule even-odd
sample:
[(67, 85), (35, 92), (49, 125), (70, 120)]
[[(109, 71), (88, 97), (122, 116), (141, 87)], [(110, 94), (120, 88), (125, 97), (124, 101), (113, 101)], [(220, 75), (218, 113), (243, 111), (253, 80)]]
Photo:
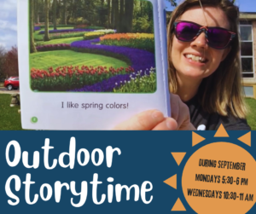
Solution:
[(124, 61), (105, 56), (75, 52), (73, 50), (54, 50), (38, 52), (30, 55), (30, 66), (47, 70), (49, 67), (62, 66), (103, 66), (103, 67), (128, 67)]

